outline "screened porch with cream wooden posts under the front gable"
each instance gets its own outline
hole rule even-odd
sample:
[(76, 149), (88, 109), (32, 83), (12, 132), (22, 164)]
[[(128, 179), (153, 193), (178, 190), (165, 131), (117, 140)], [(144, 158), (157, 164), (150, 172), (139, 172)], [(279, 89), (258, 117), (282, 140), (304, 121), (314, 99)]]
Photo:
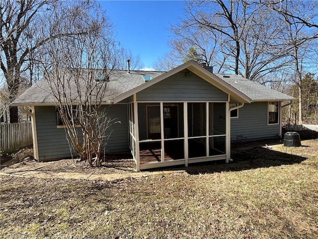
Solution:
[(129, 104), (130, 149), (137, 170), (225, 159), (227, 104)]

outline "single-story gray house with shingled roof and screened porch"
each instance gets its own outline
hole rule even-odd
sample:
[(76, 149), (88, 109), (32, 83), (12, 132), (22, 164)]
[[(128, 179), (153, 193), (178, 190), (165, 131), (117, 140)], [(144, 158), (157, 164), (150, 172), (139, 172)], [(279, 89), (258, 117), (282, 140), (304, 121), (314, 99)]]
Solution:
[[(168, 72), (114, 70), (107, 89), (103, 107), (120, 123), (112, 125), (106, 150), (130, 151), (137, 171), (229, 162), (231, 142), (281, 137), (281, 110), (295, 100), (237, 75), (213, 74), (193, 61)], [(31, 109), (35, 159), (70, 156), (45, 80), (11, 105)]]

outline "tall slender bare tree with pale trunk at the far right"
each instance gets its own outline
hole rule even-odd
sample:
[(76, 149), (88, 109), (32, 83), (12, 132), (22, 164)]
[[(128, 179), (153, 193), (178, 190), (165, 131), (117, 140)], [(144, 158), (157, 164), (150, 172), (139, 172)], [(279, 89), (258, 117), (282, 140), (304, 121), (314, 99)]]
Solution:
[[(298, 123), (303, 123), (303, 96), (302, 96), (302, 79), (305, 67), (311, 63), (309, 59), (310, 49), (313, 45), (317, 46), (318, 27), (313, 19), (317, 18), (318, 10), (317, 1), (274, 1), (266, 2), (265, 5), (278, 12), (281, 22), (285, 25), (285, 49), (291, 49), (290, 56), (293, 60), (295, 69), (295, 83), (298, 85), (299, 97), (299, 119)], [(309, 30), (312, 28), (312, 30)], [(317, 47), (316, 47), (317, 48)]]

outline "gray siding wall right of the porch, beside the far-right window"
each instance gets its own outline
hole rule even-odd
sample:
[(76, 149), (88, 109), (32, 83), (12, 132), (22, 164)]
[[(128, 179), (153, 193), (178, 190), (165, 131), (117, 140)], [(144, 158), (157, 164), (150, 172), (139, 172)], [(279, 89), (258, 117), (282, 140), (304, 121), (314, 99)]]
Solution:
[(239, 118), (231, 119), (231, 140), (257, 140), (279, 137), (279, 124), (267, 124), (267, 102), (245, 104)]

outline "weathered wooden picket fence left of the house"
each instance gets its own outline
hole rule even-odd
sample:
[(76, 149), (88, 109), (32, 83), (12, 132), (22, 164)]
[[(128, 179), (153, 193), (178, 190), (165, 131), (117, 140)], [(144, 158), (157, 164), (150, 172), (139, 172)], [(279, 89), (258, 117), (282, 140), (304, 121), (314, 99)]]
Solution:
[(0, 150), (1, 153), (13, 152), (21, 147), (32, 144), (31, 122), (1, 123)]

